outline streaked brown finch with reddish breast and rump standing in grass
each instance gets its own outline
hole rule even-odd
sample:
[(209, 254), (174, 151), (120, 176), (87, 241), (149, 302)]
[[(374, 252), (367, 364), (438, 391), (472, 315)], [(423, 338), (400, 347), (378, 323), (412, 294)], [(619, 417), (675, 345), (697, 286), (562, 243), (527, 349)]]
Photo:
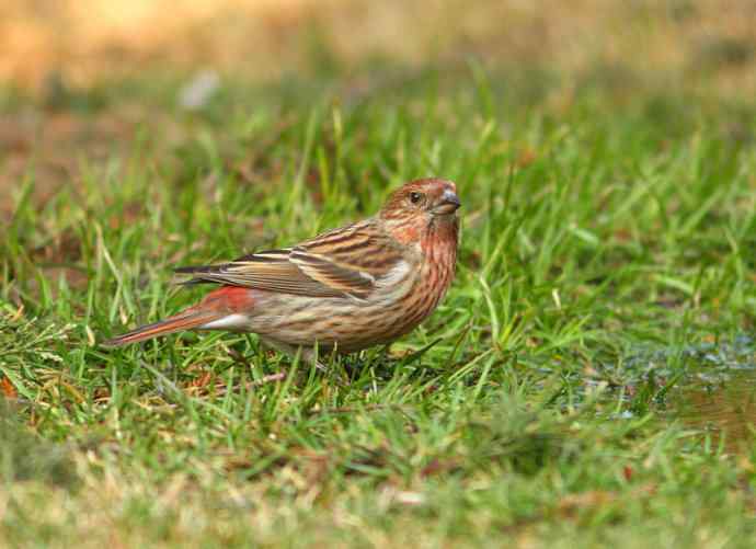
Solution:
[(449, 181), (412, 181), (378, 215), (291, 248), (181, 267), (184, 284), (220, 285), (198, 305), (105, 342), (118, 346), (182, 330), (254, 332), (314, 358), (389, 343), (423, 321), (455, 272), (460, 206)]

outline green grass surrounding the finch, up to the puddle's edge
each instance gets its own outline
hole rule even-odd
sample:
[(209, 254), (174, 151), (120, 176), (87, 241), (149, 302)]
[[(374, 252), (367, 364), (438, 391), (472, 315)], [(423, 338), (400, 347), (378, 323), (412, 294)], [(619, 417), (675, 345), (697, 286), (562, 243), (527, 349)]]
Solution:
[[(138, 114), (104, 157), (72, 151), (62, 186), (32, 162), (3, 220), (0, 545), (751, 545), (756, 446), (664, 404), (686, 348), (753, 329), (753, 100), (397, 73), (228, 78), (195, 112), (147, 75), (47, 107)], [(96, 345), (201, 295), (172, 266), (370, 215), (428, 174), (460, 190), (458, 276), (390, 348), (322, 374), (254, 335)]]

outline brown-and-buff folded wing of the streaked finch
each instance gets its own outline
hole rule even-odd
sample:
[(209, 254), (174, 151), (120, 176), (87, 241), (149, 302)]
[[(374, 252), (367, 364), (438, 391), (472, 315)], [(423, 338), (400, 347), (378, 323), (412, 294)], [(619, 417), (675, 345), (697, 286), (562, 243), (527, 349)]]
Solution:
[(390, 238), (363, 222), (319, 235), (294, 248), (176, 272), (194, 275), (186, 284), (210, 282), (312, 297), (365, 298), (401, 260), (401, 250)]

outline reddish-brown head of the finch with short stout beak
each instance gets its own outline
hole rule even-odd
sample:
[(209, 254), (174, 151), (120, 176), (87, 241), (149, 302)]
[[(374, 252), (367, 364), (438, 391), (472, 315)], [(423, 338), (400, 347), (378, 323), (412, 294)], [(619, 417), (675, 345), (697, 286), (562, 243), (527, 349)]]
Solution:
[(457, 235), (457, 208), (461, 203), (451, 181), (428, 178), (405, 183), (391, 193), (379, 217), (400, 242), (429, 233)]

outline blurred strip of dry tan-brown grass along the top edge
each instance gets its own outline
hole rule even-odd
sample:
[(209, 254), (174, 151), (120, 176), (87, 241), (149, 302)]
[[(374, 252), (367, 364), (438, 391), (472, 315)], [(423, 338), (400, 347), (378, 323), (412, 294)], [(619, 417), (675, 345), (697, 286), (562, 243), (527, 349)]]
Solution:
[(749, 0), (4, 0), (0, 78), (35, 88), (56, 71), (84, 83), (165, 64), (270, 78), (307, 67), (313, 32), (345, 64), (473, 53), (568, 71), (706, 68), (730, 90), (756, 82)]

